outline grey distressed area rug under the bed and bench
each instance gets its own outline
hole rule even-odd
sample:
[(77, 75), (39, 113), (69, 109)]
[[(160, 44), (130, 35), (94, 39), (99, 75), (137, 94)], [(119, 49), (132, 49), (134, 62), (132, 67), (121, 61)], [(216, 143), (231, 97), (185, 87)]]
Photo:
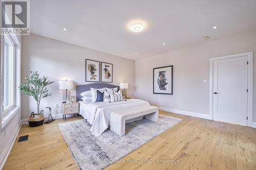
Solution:
[(181, 120), (162, 114), (159, 114), (158, 122), (143, 118), (126, 124), (124, 136), (118, 136), (108, 129), (96, 137), (92, 135), (91, 125), (85, 119), (59, 124), (58, 127), (80, 169), (102, 169)]

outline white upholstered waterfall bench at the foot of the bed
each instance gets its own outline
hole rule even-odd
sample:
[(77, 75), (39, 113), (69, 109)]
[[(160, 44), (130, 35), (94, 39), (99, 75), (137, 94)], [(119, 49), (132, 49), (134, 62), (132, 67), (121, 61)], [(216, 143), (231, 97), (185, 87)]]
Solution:
[[(110, 113), (110, 130), (119, 136), (125, 135), (125, 122), (133, 122), (136, 118), (146, 118), (154, 122), (158, 121), (158, 107), (139, 106), (130, 109), (118, 110)], [(141, 119), (139, 118), (139, 119)]]

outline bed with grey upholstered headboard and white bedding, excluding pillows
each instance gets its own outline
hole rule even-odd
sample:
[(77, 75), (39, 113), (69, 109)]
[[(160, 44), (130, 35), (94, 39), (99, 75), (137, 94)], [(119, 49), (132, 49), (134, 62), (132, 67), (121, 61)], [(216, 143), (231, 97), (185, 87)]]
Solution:
[[(150, 104), (146, 101), (139, 99), (129, 99), (122, 102), (84, 102), (81, 99), (80, 93), (83, 91), (90, 90), (90, 88), (115, 88), (119, 89), (119, 86), (115, 86), (108, 83), (91, 83), (86, 85), (77, 85), (76, 86), (76, 99), (79, 102), (79, 114), (83, 116), (83, 118), (87, 119), (87, 121), (92, 125), (91, 132), (94, 136), (99, 136), (106, 129), (108, 129), (110, 125), (110, 113), (117, 110), (128, 109), (132, 107), (139, 106), (150, 106)], [(135, 120), (142, 119), (141, 117), (136, 117), (130, 122)], [(129, 123), (129, 122), (127, 122)]]

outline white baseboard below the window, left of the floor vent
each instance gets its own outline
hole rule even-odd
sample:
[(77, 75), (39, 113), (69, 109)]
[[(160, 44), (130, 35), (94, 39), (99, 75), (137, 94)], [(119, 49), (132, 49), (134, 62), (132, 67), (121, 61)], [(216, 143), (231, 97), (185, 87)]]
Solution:
[(11, 136), (9, 142), (6, 145), (5, 150), (3, 151), (3, 153), (0, 156), (0, 169), (3, 169), (3, 167), (5, 165), (5, 162), (6, 162), (8, 156), (9, 156), (11, 150), (12, 150), (13, 144), (15, 142), (15, 139), (16, 139), (17, 135), (18, 135), (20, 127), (22, 127), (22, 120), (19, 120), (19, 123), (18, 123), (16, 129), (14, 130), (14, 132), (12, 133), (12, 136)]

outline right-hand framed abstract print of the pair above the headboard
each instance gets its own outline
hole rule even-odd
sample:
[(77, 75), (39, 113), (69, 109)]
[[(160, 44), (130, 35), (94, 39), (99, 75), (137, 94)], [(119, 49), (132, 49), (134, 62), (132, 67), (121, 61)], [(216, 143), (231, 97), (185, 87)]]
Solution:
[(113, 64), (101, 62), (101, 82), (113, 82)]

